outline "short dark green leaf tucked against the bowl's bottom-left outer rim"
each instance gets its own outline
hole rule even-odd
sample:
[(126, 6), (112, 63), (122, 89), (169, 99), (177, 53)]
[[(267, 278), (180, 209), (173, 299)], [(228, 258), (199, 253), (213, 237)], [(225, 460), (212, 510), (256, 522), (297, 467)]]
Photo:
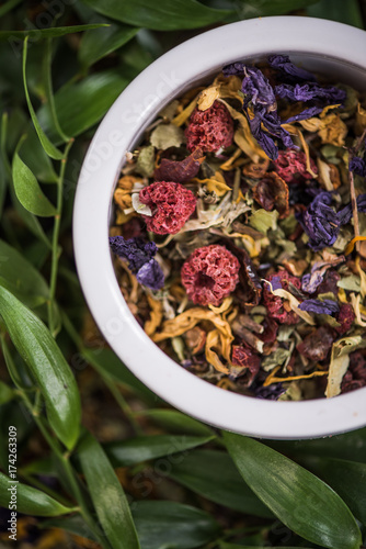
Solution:
[(168, 428), (173, 433), (183, 433), (190, 435), (202, 435), (209, 436), (213, 430), (205, 424), (193, 419), (182, 412), (176, 410), (142, 410), (141, 412), (136, 412), (136, 416), (144, 416), (153, 419), (158, 425)]

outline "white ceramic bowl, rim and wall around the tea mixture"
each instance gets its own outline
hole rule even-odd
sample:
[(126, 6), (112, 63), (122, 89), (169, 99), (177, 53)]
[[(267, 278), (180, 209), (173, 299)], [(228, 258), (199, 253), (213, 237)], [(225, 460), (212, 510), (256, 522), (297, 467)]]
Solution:
[(174, 97), (236, 60), (290, 56), (305, 68), (366, 90), (366, 33), (310, 18), (263, 18), (221, 26), (170, 51), (119, 96), (100, 124), (78, 183), (73, 237), (90, 310), (114, 351), (176, 408), (227, 430), (263, 438), (327, 436), (366, 425), (366, 388), (334, 399), (265, 401), (219, 389), (185, 371), (145, 334), (118, 288), (108, 248), (112, 195), (144, 128)]

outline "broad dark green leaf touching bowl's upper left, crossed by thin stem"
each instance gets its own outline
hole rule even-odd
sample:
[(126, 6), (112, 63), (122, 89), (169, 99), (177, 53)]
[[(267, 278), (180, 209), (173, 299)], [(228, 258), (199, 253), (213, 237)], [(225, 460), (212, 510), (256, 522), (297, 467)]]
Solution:
[[(64, 132), (76, 137), (96, 124), (128, 82), (119, 71), (106, 70), (58, 90), (55, 93), (55, 108)], [(56, 144), (61, 143), (49, 107), (43, 105), (37, 115), (50, 138)]]

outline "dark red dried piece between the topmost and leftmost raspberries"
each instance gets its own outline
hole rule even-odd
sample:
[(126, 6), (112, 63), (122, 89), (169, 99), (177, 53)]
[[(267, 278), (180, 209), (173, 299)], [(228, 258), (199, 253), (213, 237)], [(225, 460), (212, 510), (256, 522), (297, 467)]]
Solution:
[(153, 178), (157, 181), (173, 181), (174, 183), (185, 183), (194, 178), (199, 170), (199, 166), (205, 157), (197, 148), (184, 160), (169, 160), (163, 158), (160, 166), (156, 168)]

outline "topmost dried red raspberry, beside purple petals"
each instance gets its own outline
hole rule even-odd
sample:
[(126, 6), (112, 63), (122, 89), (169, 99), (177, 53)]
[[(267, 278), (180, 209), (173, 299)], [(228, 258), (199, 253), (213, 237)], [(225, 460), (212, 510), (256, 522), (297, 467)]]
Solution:
[(227, 108), (215, 101), (206, 111), (193, 111), (184, 133), (188, 150), (199, 147), (204, 153), (217, 153), (231, 145), (233, 120)]

